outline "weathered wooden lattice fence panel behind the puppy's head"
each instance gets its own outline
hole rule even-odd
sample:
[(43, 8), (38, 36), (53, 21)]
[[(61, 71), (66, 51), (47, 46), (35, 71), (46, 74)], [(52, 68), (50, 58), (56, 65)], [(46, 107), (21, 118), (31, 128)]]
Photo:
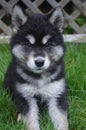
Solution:
[(64, 28), (70, 26), (75, 33), (86, 33), (86, 23), (79, 25), (76, 20), (83, 15), (85, 21), (86, 0), (0, 0), (0, 34), (11, 34), (10, 16), (15, 4), (20, 4), (29, 13), (46, 13), (60, 5), (64, 12)]

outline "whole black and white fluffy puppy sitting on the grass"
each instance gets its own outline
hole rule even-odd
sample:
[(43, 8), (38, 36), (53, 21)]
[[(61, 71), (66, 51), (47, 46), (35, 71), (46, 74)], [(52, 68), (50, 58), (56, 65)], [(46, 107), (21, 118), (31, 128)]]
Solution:
[(55, 130), (68, 130), (63, 15), (59, 7), (48, 14), (12, 15), (12, 61), (5, 75), (16, 109), (27, 130), (40, 130), (39, 104), (45, 102)]

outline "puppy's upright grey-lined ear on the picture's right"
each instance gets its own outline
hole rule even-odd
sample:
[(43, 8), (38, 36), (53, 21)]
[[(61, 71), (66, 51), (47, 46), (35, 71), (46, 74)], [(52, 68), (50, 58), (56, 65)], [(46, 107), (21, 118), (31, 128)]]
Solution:
[(47, 14), (47, 17), (52, 25), (58, 28), (60, 32), (63, 32), (64, 18), (61, 8), (59, 6), (49, 12)]

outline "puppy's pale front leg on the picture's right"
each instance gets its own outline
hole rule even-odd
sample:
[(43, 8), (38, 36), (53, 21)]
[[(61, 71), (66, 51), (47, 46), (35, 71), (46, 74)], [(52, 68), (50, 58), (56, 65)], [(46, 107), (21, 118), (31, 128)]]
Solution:
[(68, 130), (67, 113), (60, 109), (57, 99), (50, 99), (48, 109), (55, 130)]

